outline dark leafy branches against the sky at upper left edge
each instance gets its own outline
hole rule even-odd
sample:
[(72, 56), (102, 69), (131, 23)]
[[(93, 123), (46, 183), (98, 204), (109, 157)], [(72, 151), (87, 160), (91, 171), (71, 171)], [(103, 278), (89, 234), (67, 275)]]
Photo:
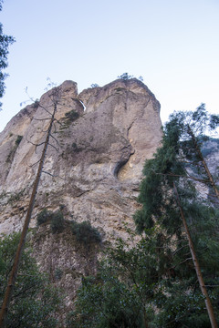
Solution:
[[(0, 11), (2, 10), (2, 3), (0, 1)], [(5, 77), (7, 75), (3, 72), (7, 67), (7, 55), (8, 55), (8, 46), (12, 45), (15, 42), (15, 38), (13, 36), (5, 36), (3, 34), (3, 26), (0, 23), (0, 97), (4, 96), (5, 93)], [(0, 108), (2, 107), (2, 103), (0, 102)]]

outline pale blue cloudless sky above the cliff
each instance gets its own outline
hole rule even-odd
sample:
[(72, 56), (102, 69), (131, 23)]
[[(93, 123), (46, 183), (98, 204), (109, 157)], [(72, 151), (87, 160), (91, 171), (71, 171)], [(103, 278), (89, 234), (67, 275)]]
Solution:
[(201, 103), (219, 113), (218, 16), (219, 0), (5, 0), (0, 22), (16, 43), (0, 131), (25, 107), (26, 87), (39, 98), (47, 77), (80, 92), (128, 72), (160, 101), (163, 123)]

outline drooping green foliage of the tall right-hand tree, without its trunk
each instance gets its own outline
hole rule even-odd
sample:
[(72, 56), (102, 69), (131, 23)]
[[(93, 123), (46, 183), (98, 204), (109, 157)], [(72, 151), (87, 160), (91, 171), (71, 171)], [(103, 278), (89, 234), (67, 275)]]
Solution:
[(159, 306), (160, 311), (154, 321), (158, 327), (209, 326), (173, 183), (180, 195), (204, 282), (211, 286), (208, 292), (218, 313), (219, 300), (215, 295), (219, 292), (219, 212), (203, 199), (196, 189), (195, 180), (191, 179), (193, 169), (198, 172), (194, 178), (207, 179), (203, 155), (199, 150), (206, 139), (204, 132), (210, 129), (211, 115), (203, 105), (193, 113), (172, 114), (163, 129), (162, 147), (153, 159), (146, 161), (143, 169), (145, 177), (139, 197), (142, 208), (135, 213), (134, 220), (137, 231), (145, 231), (146, 235), (151, 227), (159, 225), (161, 229), (154, 238), (162, 254), (161, 283), (168, 297)]

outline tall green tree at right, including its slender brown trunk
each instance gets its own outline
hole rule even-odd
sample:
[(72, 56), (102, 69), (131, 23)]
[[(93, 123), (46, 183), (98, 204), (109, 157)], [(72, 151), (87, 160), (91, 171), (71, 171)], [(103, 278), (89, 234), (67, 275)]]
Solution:
[[(189, 304), (193, 312), (191, 313), (190, 310), (182, 323), (189, 323), (190, 315), (192, 318), (200, 318), (198, 309), (200, 306), (203, 309), (200, 303), (202, 294), (197, 291), (195, 297), (193, 293), (191, 294), (191, 291), (196, 290), (195, 281), (198, 278), (212, 327), (217, 327), (217, 323), (208, 293), (214, 300), (219, 276), (219, 267), (213, 253), (213, 249), (219, 251), (216, 233), (218, 211), (202, 198), (194, 182), (203, 183), (213, 189), (217, 197), (217, 186), (203, 159), (201, 149), (205, 139), (203, 132), (207, 129), (212, 130), (218, 125), (219, 117), (209, 115), (203, 105), (193, 113), (178, 112), (171, 116), (163, 130), (162, 147), (157, 150), (153, 159), (146, 161), (143, 170), (145, 178), (141, 183), (139, 198), (142, 209), (134, 216), (139, 232), (155, 224), (159, 224), (162, 228), (161, 247), (164, 243), (169, 244), (172, 259), (173, 277), (168, 288), (169, 300), (173, 294), (177, 299), (179, 291), (181, 293), (183, 291), (184, 296), (191, 297)], [(197, 173), (193, 174), (195, 169)], [(192, 258), (188, 257), (188, 246), (193, 265)], [(213, 262), (214, 268), (211, 266)], [(203, 277), (205, 282), (211, 285), (211, 290), (208, 292)], [(187, 296), (185, 298), (188, 298)], [(177, 313), (175, 311), (169, 316), (167, 315), (169, 310), (163, 307), (164, 315), (160, 315), (160, 318), (165, 320), (163, 319), (164, 322), (162, 320), (162, 324), (175, 324), (178, 322), (179, 315), (183, 315), (178, 308)], [(199, 327), (205, 326), (205, 322), (206, 319), (203, 319)]]

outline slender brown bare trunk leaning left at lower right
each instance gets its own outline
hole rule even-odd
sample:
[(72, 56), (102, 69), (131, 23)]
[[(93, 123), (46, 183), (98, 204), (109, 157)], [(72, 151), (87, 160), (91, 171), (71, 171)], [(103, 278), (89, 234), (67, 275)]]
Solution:
[(180, 197), (179, 197), (179, 194), (178, 194), (178, 191), (176, 189), (176, 186), (175, 186), (174, 182), (173, 182), (173, 190), (175, 192), (177, 205), (179, 207), (179, 210), (180, 210), (180, 213), (181, 213), (181, 218), (183, 220), (183, 226), (184, 226), (184, 229), (185, 229), (185, 233), (186, 233), (186, 236), (187, 236), (188, 241), (189, 241), (189, 248), (190, 248), (190, 251), (191, 251), (191, 254), (192, 254), (192, 258), (193, 258), (194, 269), (195, 269), (195, 272), (196, 272), (196, 275), (197, 275), (197, 278), (198, 278), (200, 289), (203, 293), (204, 302), (206, 304), (208, 316), (209, 316), (212, 328), (217, 328), (217, 323), (216, 323), (216, 319), (215, 319), (215, 316), (214, 316), (214, 309), (213, 309), (213, 306), (212, 306), (212, 302), (210, 300), (207, 289), (206, 289), (205, 284), (203, 282), (203, 274), (201, 272), (199, 261), (197, 259), (196, 253), (194, 251), (192, 237), (191, 237), (187, 222), (186, 222), (185, 217), (184, 217), (183, 207), (182, 207), (181, 200), (180, 200)]

